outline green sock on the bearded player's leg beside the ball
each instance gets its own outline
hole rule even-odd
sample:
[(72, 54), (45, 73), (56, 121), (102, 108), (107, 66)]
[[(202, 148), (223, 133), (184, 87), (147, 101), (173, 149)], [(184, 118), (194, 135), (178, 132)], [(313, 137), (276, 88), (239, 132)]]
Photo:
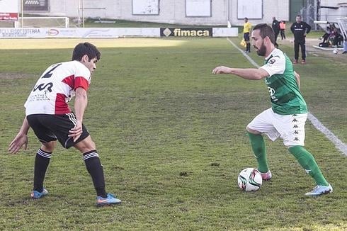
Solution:
[(266, 160), (266, 147), (263, 135), (255, 135), (247, 132), (251, 141), (252, 150), (258, 162), (258, 170), (262, 173), (268, 171), (268, 161)]

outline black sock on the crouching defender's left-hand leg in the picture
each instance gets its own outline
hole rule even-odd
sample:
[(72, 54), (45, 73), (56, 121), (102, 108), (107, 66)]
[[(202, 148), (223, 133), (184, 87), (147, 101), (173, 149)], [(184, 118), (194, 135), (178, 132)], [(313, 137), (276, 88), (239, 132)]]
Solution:
[(39, 149), (36, 153), (34, 169), (35, 191), (42, 192), (43, 190), (43, 181), (45, 180), (48, 164), (50, 164), (50, 157), (52, 157), (52, 152), (44, 152)]

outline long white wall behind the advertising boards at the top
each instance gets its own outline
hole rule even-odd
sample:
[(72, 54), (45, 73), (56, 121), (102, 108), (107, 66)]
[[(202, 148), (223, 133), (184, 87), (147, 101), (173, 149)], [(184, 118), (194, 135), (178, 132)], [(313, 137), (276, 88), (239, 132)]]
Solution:
[[(79, 0), (81, 2), (81, 0)], [(232, 26), (241, 26), (243, 19), (237, 18), (237, 0), (211, 0), (210, 17), (187, 17), (186, 0), (159, 0), (159, 15), (132, 15), (132, 0), (84, 0), (84, 16), (124, 19), (130, 21), (150, 21), (157, 23), (178, 23), (190, 25), (227, 25), (228, 13)], [(50, 0), (50, 15), (81, 17), (78, 0)], [(229, 11), (228, 11), (229, 6)], [(93, 8), (93, 9), (88, 9)], [(250, 22), (271, 23), (272, 17), (288, 21), (289, 0), (263, 0), (263, 18)], [(252, 16), (249, 16), (252, 18)]]

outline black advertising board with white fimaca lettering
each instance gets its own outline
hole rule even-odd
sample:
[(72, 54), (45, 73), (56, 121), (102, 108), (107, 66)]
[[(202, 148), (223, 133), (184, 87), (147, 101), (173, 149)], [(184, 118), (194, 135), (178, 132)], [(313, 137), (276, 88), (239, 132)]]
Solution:
[(212, 37), (212, 28), (160, 28), (161, 37)]

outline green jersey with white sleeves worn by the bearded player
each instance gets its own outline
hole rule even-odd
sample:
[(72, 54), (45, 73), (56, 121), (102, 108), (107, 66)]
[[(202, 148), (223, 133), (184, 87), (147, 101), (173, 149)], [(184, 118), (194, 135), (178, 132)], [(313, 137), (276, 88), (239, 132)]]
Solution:
[(281, 50), (275, 49), (265, 58), (262, 69), (268, 72), (265, 83), (271, 97), (273, 111), (280, 115), (307, 113), (300, 94), (292, 62)]

